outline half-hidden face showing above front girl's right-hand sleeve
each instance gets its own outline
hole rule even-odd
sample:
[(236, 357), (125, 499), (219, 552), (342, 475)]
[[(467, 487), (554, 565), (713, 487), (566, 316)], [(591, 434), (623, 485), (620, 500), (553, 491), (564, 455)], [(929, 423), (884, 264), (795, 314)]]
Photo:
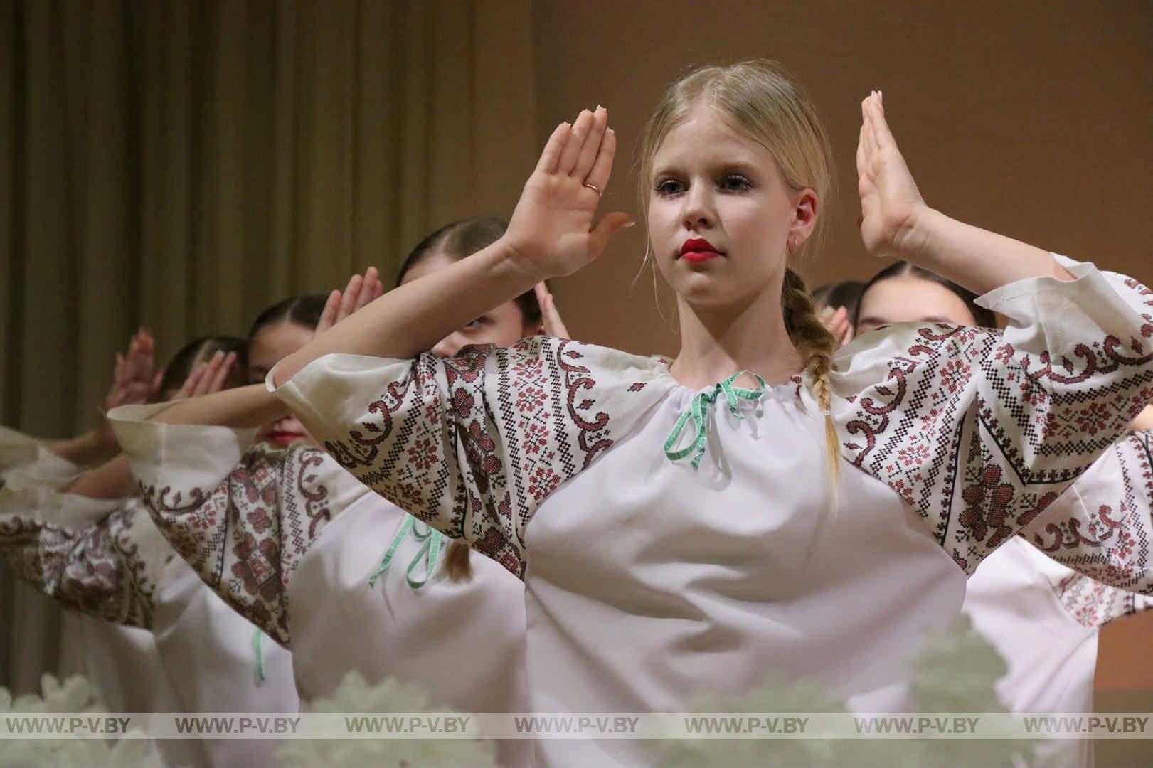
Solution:
[(892, 323), (977, 325), (965, 302), (949, 288), (913, 274), (875, 283), (861, 296), (857, 333)]

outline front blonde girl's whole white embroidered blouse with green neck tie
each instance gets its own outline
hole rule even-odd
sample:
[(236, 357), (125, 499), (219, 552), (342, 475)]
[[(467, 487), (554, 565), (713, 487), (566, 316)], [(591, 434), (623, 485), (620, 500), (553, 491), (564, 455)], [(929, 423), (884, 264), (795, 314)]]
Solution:
[[(1150, 293), (1073, 272), (988, 295), (1010, 318), (1003, 334), (895, 326), (842, 351), (832, 416), (851, 504), (836, 510), (800, 379), (740, 401), (744, 419), (721, 398), (699, 470), (662, 452), (696, 392), (657, 361), (590, 345), (329, 355), (277, 393), (363, 482), (523, 574), (535, 708), (679, 710), (696, 693), (789, 680), (899, 707), (921, 637), (959, 611), (966, 574), (1148, 397)], [(1124, 562), (1125, 586), (1153, 586), (1147, 557), (1071, 544)], [(623, 740), (538, 747), (550, 766), (657, 756)]]

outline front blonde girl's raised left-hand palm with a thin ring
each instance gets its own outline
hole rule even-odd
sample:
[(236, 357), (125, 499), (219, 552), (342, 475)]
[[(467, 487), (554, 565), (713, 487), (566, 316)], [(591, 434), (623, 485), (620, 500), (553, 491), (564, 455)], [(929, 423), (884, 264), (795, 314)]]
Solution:
[(632, 221), (627, 213), (613, 212), (594, 226), (617, 151), (608, 121), (608, 111), (597, 107), (581, 112), (571, 126), (557, 126), (525, 183), (504, 240), (541, 279), (590, 263), (612, 233)]

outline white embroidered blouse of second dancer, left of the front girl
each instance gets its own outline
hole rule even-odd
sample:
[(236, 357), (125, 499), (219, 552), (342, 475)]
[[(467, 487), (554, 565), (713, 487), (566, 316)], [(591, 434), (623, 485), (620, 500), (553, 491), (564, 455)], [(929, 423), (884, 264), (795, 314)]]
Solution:
[[(163, 406), (118, 408), (111, 417), (153, 514), (205, 582), (292, 649), (303, 700), (331, 694), (349, 671), (395, 677), (436, 706), (525, 711), (523, 586), (473, 554), (473, 578), (452, 582), (420, 557), (412, 533), (369, 585), (406, 514), (315, 449), (248, 447), (250, 432), (148, 421)], [(254, 484), (255, 483), (255, 484)], [(180, 495), (182, 503), (175, 503)], [(201, 499), (193, 502), (191, 499)], [(319, 499), (310, 506), (309, 499)], [(278, 532), (269, 535), (267, 532)], [(296, 532), (287, 535), (285, 532)], [(231, 578), (236, 545), (265, 575), (254, 589)], [(408, 583), (428, 575), (420, 588)], [(461, 665), (476, 649), (483, 662)], [(506, 766), (523, 766), (532, 743), (500, 745)]]

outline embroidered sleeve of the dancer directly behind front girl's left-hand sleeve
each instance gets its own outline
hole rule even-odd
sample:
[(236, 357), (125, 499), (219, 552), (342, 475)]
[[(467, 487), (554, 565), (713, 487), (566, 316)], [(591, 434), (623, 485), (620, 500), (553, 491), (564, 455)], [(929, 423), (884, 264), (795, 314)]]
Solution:
[(241, 432), (146, 421), (156, 411), (110, 413), (152, 520), (209, 588), (288, 647), (288, 578), (345, 497), (366, 490), (322, 451), (244, 450)]

